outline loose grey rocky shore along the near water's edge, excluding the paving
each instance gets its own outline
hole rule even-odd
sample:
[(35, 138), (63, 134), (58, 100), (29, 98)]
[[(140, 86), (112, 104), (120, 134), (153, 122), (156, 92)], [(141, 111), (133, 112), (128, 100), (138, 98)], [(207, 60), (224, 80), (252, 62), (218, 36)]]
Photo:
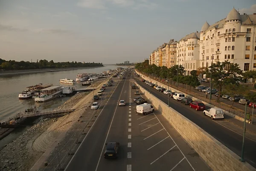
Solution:
[[(94, 83), (94, 86), (97, 87), (99, 84), (102, 84), (103, 81), (106, 80), (99, 80)], [(90, 92), (78, 93), (71, 97), (68, 101), (62, 104), (59, 109), (61, 108), (78, 108), (81, 104), (86, 104), (89, 101), (89, 98), (85, 98)], [(91, 100), (91, 98), (90, 98)], [(66, 115), (64, 117), (52, 116), (54, 118), (42, 118), (37, 124), (29, 128), (26, 132), (20, 135), (16, 140), (12, 143), (7, 144), (3, 149), (0, 151), (0, 171), (28, 171), (32, 166), (38, 161), (42, 154), (44, 154), (44, 150), (39, 150), (36, 148), (37, 146), (34, 145), (34, 142), (37, 142), (38, 137), (46, 134), (49, 135), (50, 133), (54, 133), (55, 129), (68, 127), (69, 122), (73, 121), (76, 118), (76, 115)], [(59, 121), (60, 120), (60, 121)], [(66, 121), (63, 122), (61, 120)], [(58, 122), (59, 121), (59, 122)], [(60, 125), (59, 123), (65, 123)], [(52, 129), (51, 129), (52, 128)], [(48, 131), (48, 132), (47, 132)], [(52, 131), (52, 132), (51, 132)], [(63, 131), (61, 129), (59, 132)], [(45, 133), (47, 132), (47, 133)], [(55, 135), (53, 135), (54, 138)], [(45, 136), (43, 138), (50, 138), (49, 136)], [(44, 139), (43, 139), (44, 141)], [(49, 140), (50, 142), (50, 140)], [(40, 145), (40, 144), (39, 144)], [(42, 144), (41, 144), (42, 146)]]

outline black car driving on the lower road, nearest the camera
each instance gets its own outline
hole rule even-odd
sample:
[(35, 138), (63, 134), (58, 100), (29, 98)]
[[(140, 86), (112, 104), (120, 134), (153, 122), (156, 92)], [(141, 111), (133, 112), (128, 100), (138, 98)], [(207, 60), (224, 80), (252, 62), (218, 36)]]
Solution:
[(104, 153), (105, 159), (116, 159), (118, 157), (119, 142), (106, 143), (106, 150)]

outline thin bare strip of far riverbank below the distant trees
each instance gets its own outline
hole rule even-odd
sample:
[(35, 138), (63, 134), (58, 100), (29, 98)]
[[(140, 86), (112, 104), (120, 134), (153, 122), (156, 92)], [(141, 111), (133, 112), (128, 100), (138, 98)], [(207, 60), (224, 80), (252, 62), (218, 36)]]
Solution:
[[(99, 67), (104, 67), (104, 66), (99, 66)], [(9, 71), (0, 71), (0, 76), (28, 74), (28, 73), (57, 72), (57, 71), (67, 71), (67, 70), (80, 70), (80, 69), (90, 69), (90, 68), (97, 68), (97, 67), (46, 68), (46, 69), (35, 69), (35, 70), (9, 70)]]

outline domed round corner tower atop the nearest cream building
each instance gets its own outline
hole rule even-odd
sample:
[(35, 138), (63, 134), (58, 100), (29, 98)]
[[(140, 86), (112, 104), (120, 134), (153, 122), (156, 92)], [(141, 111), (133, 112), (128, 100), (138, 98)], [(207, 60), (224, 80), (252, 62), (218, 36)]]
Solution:
[[(233, 8), (227, 15), (224, 29), (226, 33), (241, 31), (241, 16), (235, 8)], [(230, 31), (231, 29), (231, 31)]]

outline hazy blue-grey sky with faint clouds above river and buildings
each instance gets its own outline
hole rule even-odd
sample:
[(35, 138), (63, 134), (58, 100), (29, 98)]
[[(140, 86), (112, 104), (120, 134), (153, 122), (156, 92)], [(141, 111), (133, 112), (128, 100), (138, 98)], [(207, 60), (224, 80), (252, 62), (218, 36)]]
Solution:
[(0, 0), (0, 58), (141, 62), (151, 52), (255, 0)]

